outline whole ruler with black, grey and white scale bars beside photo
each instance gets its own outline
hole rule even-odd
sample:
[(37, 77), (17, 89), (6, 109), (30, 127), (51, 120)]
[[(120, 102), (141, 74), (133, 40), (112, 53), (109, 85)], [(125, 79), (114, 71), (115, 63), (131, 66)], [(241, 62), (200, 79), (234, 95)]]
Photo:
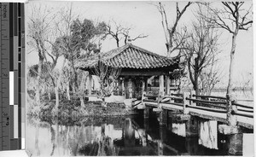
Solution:
[[(0, 3), (0, 150), (25, 148), (24, 3)], [(23, 88), (23, 89), (22, 89)]]

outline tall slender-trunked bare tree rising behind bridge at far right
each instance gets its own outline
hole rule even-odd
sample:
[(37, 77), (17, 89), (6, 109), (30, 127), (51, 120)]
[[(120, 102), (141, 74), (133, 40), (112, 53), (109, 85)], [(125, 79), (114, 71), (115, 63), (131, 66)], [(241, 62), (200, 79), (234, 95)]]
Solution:
[(227, 97), (233, 101), (235, 97), (231, 95), (234, 78), (234, 58), (236, 52), (236, 38), (240, 30), (247, 31), (253, 24), (252, 5), (244, 7), (244, 2), (223, 2), (223, 9), (212, 9), (208, 3), (205, 4), (213, 17), (205, 17), (205, 20), (212, 23), (212, 26), (224, 29), (232, 34), (232, 45), (230, 49), (230, 73), (227, 87)]

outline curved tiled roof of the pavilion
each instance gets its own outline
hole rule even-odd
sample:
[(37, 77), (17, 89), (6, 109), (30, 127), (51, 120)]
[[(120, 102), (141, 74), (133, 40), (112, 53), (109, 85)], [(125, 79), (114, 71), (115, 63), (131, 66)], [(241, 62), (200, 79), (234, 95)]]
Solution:
[[(149, 52), (133, 44), (126, 44), (117, 49), (101, 54), (102, 62), (109, 67), (155, 68), (168, 67), (176, 61), (162, 55)], [(93, 67), (99, 60), (98, 55), (87, 61), (79, 61), (76, 67)]]

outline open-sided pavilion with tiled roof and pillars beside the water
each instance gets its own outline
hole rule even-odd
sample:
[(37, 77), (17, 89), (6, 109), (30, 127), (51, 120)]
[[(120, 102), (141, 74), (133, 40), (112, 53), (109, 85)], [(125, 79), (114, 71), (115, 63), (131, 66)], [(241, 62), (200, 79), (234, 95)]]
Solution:
[[(173, 82), (172, 72), (180, 69), (179, 59), (157, 55), (133, 44), (125, 44), (117, 49), (101, 53), (103, 64), (108, 67), (121, 68), (117, 80), (115, 95), (125, 96), (125, 99), (140, 98), (143, 91), (153, 94), (169, 94)], [(91, 75), (93, 67), (98, 63), (98, 55), (89, 60), (78, 61), (76, 67), (89, 71), (89, 89), (91, 95)], [(148, 83), (151, 84), (148, 84)]]

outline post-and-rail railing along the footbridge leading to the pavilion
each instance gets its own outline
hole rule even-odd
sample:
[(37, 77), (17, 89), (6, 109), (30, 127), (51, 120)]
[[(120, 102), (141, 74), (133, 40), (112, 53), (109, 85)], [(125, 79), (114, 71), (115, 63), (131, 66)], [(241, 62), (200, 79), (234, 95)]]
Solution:
[[(195, 91), (183, 93), (171, 93), (169, 95), (151, 96), (143, 93), (143, 104), (155, 108), (167, 108), (182, 110), (189, 113), (197, 110), (214, 113), (228, 113), (229, 106), (227, 98), (224, 96), (201, 96), (195, 95)], [(252, 102), (252, 101), (247, 101)], [(193, 108), (193, 109), (192, 109)], [(232, 102), (232, 115), (253, 118), (253, 106)], [(228, 116), (227, 116), (228, 117)]]

